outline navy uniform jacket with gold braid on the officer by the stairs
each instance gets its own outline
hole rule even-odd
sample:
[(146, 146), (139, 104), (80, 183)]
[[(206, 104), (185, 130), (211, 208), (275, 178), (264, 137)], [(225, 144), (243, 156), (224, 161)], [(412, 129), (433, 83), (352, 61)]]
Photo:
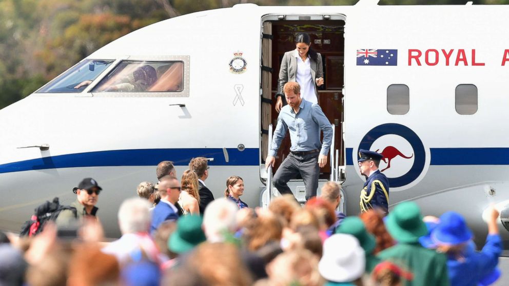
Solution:
[(389, 181), (380, 170), (369, 175), (361, 191), (361, 213), (369, 209), (380, 209), (389, 213)]

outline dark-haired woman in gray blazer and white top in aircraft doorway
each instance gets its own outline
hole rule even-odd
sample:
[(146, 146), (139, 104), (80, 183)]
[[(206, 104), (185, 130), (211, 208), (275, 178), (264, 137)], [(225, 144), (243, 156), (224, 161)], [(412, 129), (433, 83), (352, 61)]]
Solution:
[(283, 107), (283, 86), (288, 81), (297, 81), (301, 86), (301, 98), (310, 103), (318, 104), (317, 87), (323, 85), (322, 56), (311, 49), (308, 34), (298, 34), (295, 41), (296, 49), (286, 52), (281, 61), (276, 94), (276, 111)]

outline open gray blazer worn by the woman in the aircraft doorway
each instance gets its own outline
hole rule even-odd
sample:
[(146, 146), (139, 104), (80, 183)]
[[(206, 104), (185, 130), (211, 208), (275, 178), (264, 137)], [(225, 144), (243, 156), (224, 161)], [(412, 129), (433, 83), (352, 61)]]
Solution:
[[(299, 54), (297, 50), (286, 52), (283, 56), (283, 60), (281, 61), (281, 68), (279, 69), (278, 93), (276, 93), (276, 98), (278, 95), (284, 97), (283, 87), (286, 83), (288, 83), (288, 81), (296, 81), (298, 56)], [(319, 53), (318, 59), (316, 61), (311, 59), (311, 76), (313, 77), (313, 81), (319, 77), (323, 77), (322, 56)], [(315, 92), (318, 97), (318, 89), (316, 86)]]

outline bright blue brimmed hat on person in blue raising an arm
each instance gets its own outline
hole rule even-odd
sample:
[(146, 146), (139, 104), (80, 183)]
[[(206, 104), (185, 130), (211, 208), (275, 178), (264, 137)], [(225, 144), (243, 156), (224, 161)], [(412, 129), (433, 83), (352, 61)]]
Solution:
[(459, 213), (446, 212), (440, 216), (440, 223), (431, 233), (433, 242), (439, 245), (456, 245), (472, 239), (465, 219)]

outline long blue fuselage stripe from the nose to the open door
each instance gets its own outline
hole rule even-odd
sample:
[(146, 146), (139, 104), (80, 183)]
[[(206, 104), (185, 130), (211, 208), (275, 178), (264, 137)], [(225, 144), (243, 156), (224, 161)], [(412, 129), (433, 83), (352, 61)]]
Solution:
[(227, 148), (226, 162), (221, 148), (187, 149), (131, 149), (110, 150), (49, 156), (0, 165), (0, 173), (43, 170), (54, 168), (105, 167), (105, 166), (156, 166), (160, 161), (171, 160), (176, 166), (187, 166), (193, 157), (214, 158), (210, 166), (258, 166), (258, 148)]

